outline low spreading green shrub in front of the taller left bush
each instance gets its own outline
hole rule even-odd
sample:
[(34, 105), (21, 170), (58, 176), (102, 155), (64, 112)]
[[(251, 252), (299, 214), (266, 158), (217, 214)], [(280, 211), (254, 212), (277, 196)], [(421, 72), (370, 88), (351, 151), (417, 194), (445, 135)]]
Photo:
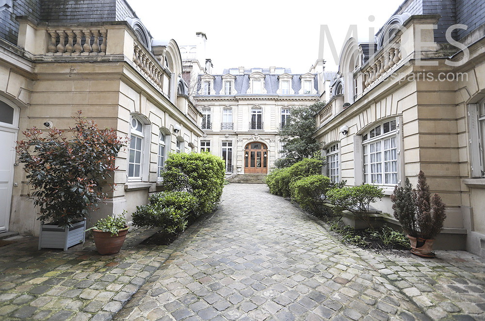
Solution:
[(152, 194), (148, 204), (136, 207), (133, 224), (161, 228), (167, 233), (182, 232), (188, 219), (195, 217), (196, 205), (197, 198), (188, 192)]

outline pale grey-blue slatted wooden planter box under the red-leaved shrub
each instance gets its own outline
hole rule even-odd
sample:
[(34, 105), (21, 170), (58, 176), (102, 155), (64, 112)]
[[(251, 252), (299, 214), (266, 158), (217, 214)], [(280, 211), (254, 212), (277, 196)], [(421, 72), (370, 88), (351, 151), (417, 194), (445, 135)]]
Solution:
[(84, 243), (86, 219), (74, 223), (71, 227), (59, 227), (58, 225), (40, 224), (39, 250), (41, 248), (67, 249), (73, 245)]

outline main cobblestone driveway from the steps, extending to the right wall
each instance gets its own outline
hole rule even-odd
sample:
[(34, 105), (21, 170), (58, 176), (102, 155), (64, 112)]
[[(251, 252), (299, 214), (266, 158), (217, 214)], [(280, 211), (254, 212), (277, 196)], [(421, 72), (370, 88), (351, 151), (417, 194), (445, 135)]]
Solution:
[(217, 212), (115, 320), (485, 320), (485, 260), (377, 254), (265, 185), (230, 184)]

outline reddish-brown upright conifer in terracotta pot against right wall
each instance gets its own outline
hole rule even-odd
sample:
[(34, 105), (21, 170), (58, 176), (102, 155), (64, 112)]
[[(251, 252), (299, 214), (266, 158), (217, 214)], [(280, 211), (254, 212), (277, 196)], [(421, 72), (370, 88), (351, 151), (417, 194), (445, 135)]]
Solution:
[(396, 186), (391, 200), (394, 203), (394, 216), (411, 243), (411, 253), (420, 257), (435, 257), (432, 248), (446, 218), (445, 204), (438, 194), (431, 197), (423, 171), (418, 175), (416, 190), (413, 190), (406, 177), (405, 186)]

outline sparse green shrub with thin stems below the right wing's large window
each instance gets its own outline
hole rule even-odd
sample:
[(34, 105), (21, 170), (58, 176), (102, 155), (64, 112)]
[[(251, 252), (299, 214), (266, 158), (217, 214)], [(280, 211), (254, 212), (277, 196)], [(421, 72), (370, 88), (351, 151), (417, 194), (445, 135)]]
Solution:
[(363, 184), (334, 188), (329, 190), (326, 196), (334, 205), (333, 210), (336, 215), (341, 215), (343, 210), (348, 210), (372, 226), (368, 216), (369, 206), (381, 199), (384, 194), (382, 188), (378, 186)]

